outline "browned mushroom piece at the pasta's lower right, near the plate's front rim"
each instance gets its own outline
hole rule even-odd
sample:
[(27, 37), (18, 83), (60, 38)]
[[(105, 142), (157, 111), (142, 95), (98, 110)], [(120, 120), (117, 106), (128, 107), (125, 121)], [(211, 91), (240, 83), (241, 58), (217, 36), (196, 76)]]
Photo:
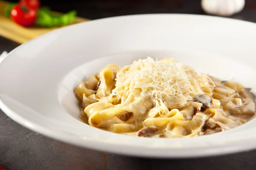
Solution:
[(209, 118), (205, 121), (204, 126), (202, 127), (202, 132), (204, 135), (222, 132), (224, 129), (216, 123), (212, 118)]

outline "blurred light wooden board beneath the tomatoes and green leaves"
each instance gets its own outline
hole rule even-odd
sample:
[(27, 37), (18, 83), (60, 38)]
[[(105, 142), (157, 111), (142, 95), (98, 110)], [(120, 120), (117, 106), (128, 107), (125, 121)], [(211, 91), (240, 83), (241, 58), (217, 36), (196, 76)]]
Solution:
[[(12, 20), (4, 16), (4, 10), (9, 3), (0, 0), (0, 36), (6, 37), (9, 40), (17, 43), (27, 42), (39, 35), (45, 34), (57, 28), (41, 28), (41, 27), (22, 27), (14, 23)], [(55, 12), (57, 13), (57, 12)], [(81, 23), (88, 19), (76, 17), (74, 23)]]

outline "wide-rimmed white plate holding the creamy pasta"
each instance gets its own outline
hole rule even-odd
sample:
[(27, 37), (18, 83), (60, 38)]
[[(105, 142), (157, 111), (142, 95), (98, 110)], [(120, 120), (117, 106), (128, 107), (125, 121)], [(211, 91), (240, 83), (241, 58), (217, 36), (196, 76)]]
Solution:
[[(79, 121), (73, 88), (107, 64), (174, 57), (198, 71), (234, 78), (256, 91), (256, 24), (186, 14), (147, 14), (89, 21), (52, 31), (13, 50), (0, 64), (0, 107), (45, 136), (111, 153), (198, 157), (256, 148), (256, 120), (208, 136), (136, 138)], [(104, 57), (104, 58), (103, 58)]]

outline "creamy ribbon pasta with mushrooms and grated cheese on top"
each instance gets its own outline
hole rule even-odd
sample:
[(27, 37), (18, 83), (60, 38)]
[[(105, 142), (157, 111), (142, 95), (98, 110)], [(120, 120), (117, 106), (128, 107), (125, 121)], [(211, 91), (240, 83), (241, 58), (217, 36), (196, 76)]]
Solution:
[(131, 136), (192, 137), (247, 122), (255, 105), (241, 84), (194, 71), (174, 59), (107, 65), (75, 88), (90, 126)]

